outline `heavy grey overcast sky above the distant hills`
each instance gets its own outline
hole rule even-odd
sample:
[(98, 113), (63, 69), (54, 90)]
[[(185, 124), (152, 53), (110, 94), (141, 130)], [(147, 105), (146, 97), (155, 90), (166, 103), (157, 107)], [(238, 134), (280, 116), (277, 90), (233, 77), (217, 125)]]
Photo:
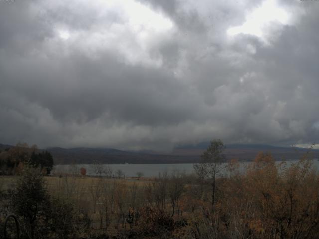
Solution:
[(0, 143), (319, 142), (319, 1), (0, 0)]

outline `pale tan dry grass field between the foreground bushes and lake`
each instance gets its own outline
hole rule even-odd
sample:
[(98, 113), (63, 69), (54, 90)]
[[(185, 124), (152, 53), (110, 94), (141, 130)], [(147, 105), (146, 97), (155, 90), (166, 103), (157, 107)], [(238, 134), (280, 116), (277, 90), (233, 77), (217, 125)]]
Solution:
[[(19, 176), (0, 176), (0, 190), (14, 189), (18, 178)], [(142, 202), (141, 192), (153, 179), (66, 175), (44, 176), (44, 181), (51, 196), (72, 202), (82, 217), (84, 214), (88, 216), (93, 228), (101, 227), (101, 215), (105, 213), (105, 206), (108, 205), (110, 223), (117, 228), (122, 224), (117, 218), (124, 217), (119, 215), (128, 213), (130, 201)], [(109, 230), (112, 229), (114, 227), (109, 227)]]

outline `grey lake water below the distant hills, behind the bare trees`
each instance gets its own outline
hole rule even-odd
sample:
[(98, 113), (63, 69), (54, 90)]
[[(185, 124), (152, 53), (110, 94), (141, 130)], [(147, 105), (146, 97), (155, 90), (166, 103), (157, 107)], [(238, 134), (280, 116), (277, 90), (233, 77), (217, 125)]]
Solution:
[[(287, 161), (287, 166), (298, 162), (297, 160)], [(244, 172), (246, 167), (251, 162), (240, 162), (240, 172)], [(276, 162), (281, 163), (281, 161)], [(181, 163), (181, 164), (105, 164), (104, 166), (110, 166), (113, 170), (113, 174), (116, 175), (117, 170), (122, 170), (126, 177), (136, 177), (137, 172), (142, 172), (145, 177), (157, 177), (159, 173), (166, 173), (170, 175), (174, 171), (183, 172), (186, 174), (194, 173), (194, 168), (192, 163)], [(227, 163), (222, 163), (220, 165), (220, 171), (223, 175), (227, 174), (225, 169)], [(319, 168), (319, 161), (313, 160), (313, 165), (315, 168)], [(87, 175), (95, 175), (94, 169), (91, 164), (75, 164), (75, 165), (55, 165), (52, 171), (53, 174), (59, 173), (72, 173), (80, 172), (80, 168), (84, 167), (87, 170)], [(103, 175), (103, 174), (102, 174)]]

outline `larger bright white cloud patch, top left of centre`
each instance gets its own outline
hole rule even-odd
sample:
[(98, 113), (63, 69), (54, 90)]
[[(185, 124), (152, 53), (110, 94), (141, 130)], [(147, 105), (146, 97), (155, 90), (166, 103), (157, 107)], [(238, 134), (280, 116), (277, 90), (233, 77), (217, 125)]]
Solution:
[[(60, 4), (51, 3), (51, 7), (58, 9)], [(127, 64), (161, 66), (162, 59), (152, 56), (150, 51), (158, 42), (164, 42), (171, 37), (174, 24), (168, 17), (135, 0), (82, 0), (74, 1), (74, 4), (89, 5), (88, 11), (94, 14), (94, 20), (88, 27), (77, 28), (70, 23), (56, 21), (55, 35), (65, 43), (68, 41), (67, 44), (61, 45), (60, 41), (52, 38), (46, 42), (50, 44), (50, 48), (54, 48), (56, 52), (81, 49), (90, 58), (111, 51), (120, 53)], [(73, 9), (70, 11), (73, 12)], [(121, 19), (114, 21), (110, 19), (112, 15)], [(75, 21), (76, 17), (77, 15), (71, 16), (70, 22)], [(63, 49), (58, 49), (60, 47)]]

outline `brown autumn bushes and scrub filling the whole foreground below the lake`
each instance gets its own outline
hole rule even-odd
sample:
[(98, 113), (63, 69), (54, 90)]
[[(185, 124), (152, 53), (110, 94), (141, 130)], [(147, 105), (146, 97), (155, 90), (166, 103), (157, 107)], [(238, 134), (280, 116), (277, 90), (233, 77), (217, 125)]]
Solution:
[(319, 238), (319, 176), (311, 160), (288, 167), (260, 153), (244, 174), (232, 163), (232, 176), (216, 179), (213, 203), (209, 180), (182, 174), (139, 185), (97, 178), (87, 187), (89, 179), (65, 177), (52, 190), (37, 169), (26, 168), (15, 190), (2, 190), (0, 225), (14, 212), (25, 239)]

